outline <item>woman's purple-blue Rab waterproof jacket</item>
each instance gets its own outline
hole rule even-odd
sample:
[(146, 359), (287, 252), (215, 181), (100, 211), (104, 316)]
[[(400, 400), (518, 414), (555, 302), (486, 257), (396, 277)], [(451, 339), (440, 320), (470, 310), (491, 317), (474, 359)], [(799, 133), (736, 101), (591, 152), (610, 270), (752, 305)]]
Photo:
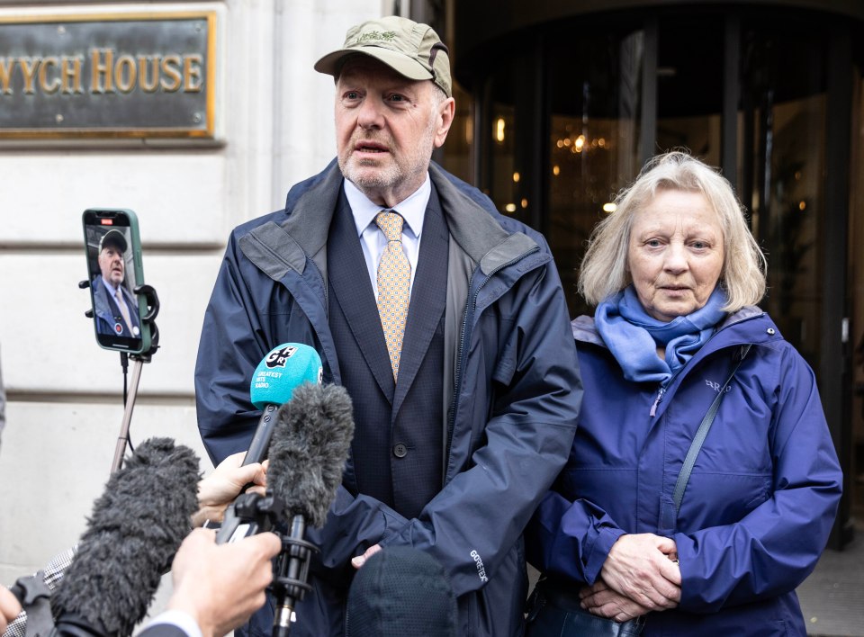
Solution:
[[(680, 606), (649, 614), (646, 637), (806, 635), (795, 588), (828, 541), (842, 473), (801, 355), (767, 314), (744, 308), (662, 392), (624, 379), (592, 318), (574, 320), (573, 335), (585, 400), (567, 466), (529, 525), (529, 561), (579, 588), (620, 535), (671, 537)], [(748, 344), (676, 519), (690, 442)]]

